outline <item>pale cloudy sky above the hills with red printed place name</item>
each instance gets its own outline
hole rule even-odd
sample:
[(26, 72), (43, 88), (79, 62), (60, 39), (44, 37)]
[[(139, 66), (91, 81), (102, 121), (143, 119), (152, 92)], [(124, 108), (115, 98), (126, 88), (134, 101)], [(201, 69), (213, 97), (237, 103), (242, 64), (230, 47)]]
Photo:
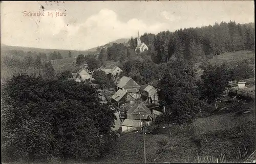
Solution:
[(86, 50), (137, 37), (138, 31), (254, 22), (253, 1), (2, 1), (0, 6), (1, 44), (50, 49)]

